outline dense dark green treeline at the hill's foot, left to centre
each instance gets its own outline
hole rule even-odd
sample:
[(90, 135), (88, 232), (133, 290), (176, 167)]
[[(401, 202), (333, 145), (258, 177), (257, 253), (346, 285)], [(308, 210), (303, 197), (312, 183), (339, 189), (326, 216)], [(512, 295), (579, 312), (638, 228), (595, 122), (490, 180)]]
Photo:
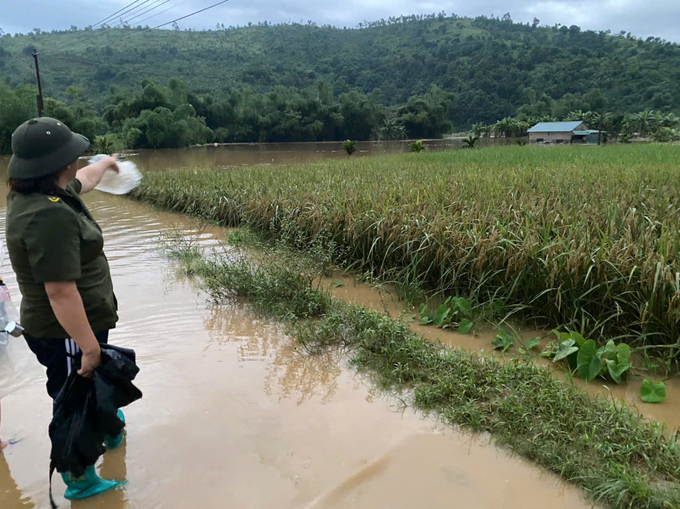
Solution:
[[(11, 150), (12, 131), (35, 116), (36, 90), (0, 83), (0, 152)], [(134, 94), (110, 95), (104, 114), (86, 108), (71, 87), (69, 103), (48, 98), (47, 116), (97, 141), (97, 149), (180, 148), (212, 142), (304, 142), (441, 138), (452, 128), (451, 94), (437, 87), (403, 105), (385, 107), (380, 92), (335, 96), (319, 82), (298, 90), (277, 86), (259, 94), (246, 88), (216, 99), (195, 94), (179, 79), (168, 86), (142, 82)]]

